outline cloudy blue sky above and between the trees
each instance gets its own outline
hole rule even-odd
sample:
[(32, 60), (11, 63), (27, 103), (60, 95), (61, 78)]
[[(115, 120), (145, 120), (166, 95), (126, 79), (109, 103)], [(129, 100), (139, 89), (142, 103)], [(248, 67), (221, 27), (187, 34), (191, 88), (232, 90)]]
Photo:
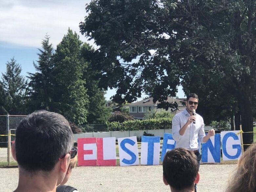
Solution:
[[(34, 73), (33, 61), (38, 59), (38, 48), (46, 33), (54, 49), (69, 27), (88, 42), (79, 32), (79, 23), (88, 14), (86, 3), (90, 0), (0, 0), (0, 74), (6, 72), (6, 63), (12, 57), (21, 65), (22, 75)], [(115, 92), (109, 89), (106, 99)], [(181, 86), (177, 96), (184, 97)]]

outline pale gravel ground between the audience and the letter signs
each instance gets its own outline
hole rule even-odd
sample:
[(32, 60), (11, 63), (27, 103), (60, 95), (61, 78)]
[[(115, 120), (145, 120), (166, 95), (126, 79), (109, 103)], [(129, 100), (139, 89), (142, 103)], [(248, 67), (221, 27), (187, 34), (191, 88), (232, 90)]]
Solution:
[[(224, 192), (236, 164), (201, 164), (199, 192)], [(0, 192), (13, 191), (18, 168), (0, 168)], [(170, 192), (162, 181), (162, 166), (75, 167), (68, 185), (79, 192)]]

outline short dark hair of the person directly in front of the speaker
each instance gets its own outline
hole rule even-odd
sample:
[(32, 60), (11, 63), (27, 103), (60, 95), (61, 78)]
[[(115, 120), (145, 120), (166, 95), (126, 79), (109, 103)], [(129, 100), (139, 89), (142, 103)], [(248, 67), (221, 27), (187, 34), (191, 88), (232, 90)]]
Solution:
[(196, 155), (185, 148), (168, 151), (163, 159), (163, 176), (176, 190), (191, 187), (199, 171)]

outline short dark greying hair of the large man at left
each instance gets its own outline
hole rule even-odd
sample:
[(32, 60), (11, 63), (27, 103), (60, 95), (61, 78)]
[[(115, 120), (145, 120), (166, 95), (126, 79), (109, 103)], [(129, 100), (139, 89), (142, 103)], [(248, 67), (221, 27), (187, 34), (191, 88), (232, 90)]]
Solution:
[(73, 145), (69, 122), (60, 114), (35, 111), (16, 129), (15, 155), (20, 167), (28, 172), (50, 172), (58, 159)]

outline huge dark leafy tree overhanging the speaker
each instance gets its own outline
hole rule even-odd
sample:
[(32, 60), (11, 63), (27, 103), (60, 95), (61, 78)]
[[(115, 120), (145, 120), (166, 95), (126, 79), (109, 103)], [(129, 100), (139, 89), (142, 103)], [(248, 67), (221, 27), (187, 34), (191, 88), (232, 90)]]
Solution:
[[(238, 107), (247, 132), (253, 130), (256, 88), (255, 3), (93, 0), (80, 31), (98, 46), (93, 66), (102, 72), (100, 86), (117, 88), (114, 100), (132, 102), (150, 87), (154, 101), (162, 101), (159, 107), (173, 107), (164, 99), (175, 96), (181, 82), (186, 92), (199, 82), (197, 90), (212, 92), (203, 94), (205, 101), (217, 101), (217, 84), (207, 84), (217, 77), (220, 95), (231, 99), (222, 107), (229, 114)], [(252, 142), (252, 134), (243, 136), (245, 144)]]

